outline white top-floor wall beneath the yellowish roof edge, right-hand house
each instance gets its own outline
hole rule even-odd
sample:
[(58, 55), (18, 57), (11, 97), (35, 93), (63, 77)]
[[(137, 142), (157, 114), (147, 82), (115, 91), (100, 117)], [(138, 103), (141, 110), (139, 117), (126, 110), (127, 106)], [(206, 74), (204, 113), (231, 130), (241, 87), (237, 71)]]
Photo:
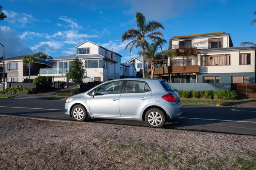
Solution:
[(172, 49), (179, 48), (179, 41), (184, 41), (184, 40), (192, 40), (191, 41), (192, 48), (197, 47), (198, 49), (208, 49), (210, 38), (223, 38), (223, 48), (229, 47), (229, 42), (228, 42), (229, 37), (210, 36), (210, 37), (198, 37), (198, 38), (172, 40)]

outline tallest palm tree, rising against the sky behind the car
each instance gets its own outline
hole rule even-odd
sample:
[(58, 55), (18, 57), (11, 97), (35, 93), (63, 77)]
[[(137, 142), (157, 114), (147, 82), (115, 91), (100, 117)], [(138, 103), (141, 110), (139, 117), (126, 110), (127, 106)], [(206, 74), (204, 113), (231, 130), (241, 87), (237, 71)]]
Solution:
[[(132, 40), (125, 47), (125, 50), (130, 47), (130, 54), (134, 45), (136, 48), (142, 48), (142, 53), (144, 53), (145, 45), (148, 45), (148, 40), (157, 41), (163, 39), (163, 33), (158, 31), (158, 29), (164, 30), (163, 24), (154, 20), (146, 23), (145, 16), (140, 12), (136, 13), (136, 20), (137, 28), (130, 28), (122, 34), (122, 42), (125, 40)], [(141, 56), (143, 78), (145, 78), (145, 57), (144, 54)]]

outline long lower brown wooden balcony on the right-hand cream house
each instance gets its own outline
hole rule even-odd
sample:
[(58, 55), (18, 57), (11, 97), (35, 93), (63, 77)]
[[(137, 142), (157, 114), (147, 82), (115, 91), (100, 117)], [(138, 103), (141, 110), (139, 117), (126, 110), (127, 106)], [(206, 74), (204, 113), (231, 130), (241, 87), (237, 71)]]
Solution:
[(154, 74), (199, 73), (199, 65), (171, 66), (155, 68)]

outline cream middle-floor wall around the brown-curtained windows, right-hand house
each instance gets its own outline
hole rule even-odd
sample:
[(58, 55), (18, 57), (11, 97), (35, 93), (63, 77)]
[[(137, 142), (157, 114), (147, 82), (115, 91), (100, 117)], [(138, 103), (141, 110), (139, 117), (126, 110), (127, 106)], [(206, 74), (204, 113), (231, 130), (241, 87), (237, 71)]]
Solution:
[[(251, 65), (239, 65), (240, 54), (251, 54)], [(198, 54), (198, 65), (200, 65), (200, 73), (251, 73), (255, 69), (255, 51), (254, 50), (242, 50), (242, 51), (224, 51), (224, 52), (208, 52), (203, 55), (218, 55), (218, 54), (230, 54), (230, 65), (212, 65), (201, 66), (201, 57)]]

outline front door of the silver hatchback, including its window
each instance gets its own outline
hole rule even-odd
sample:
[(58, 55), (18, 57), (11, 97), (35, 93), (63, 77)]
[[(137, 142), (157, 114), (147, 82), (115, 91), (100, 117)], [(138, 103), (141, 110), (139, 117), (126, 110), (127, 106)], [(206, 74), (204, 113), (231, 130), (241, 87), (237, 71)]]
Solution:
[(90, 113), (94, 116), (120, 117), (119, 99), (123, 81), (108, 82), (96, 89), (89, 101)]

